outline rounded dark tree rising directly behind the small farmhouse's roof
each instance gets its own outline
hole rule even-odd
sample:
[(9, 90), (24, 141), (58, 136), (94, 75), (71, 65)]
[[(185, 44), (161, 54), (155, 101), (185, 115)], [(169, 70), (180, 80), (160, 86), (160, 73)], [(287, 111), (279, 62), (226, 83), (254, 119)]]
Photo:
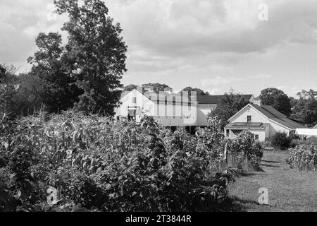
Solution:
[(282, 90), (278, 90), (276, 88), (266, 88), (261, 91), (260, 98), (263, 105), (271, 105), (283, 114), (290, 115), (292, 112), (290, 99)]

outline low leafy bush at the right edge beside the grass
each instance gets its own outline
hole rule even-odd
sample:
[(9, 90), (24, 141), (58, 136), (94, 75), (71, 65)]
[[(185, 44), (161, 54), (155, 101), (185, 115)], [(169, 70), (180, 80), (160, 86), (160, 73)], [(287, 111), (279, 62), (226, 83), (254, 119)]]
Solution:
[(292, 150), (286, 162), (291, 168), (317, 170), (317, 147), (313, 145), (298, 146)]

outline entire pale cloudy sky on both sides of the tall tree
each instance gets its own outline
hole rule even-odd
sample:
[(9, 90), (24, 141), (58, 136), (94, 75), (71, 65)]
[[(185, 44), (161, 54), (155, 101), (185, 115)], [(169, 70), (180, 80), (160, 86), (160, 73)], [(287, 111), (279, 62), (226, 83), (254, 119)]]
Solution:
[[(61, 32), (67, 20), (52, 13), (52, 2), (0, 0), (1, 64), (30, 70), (27, 58), (37, 49), (37, 34)], [(289, 96), (317, 90), (316, 0), (105, 3), (128, 45), (124, 85), (158, 82), (213, 95), (233, 89), (257, 96), (268, 87)]]

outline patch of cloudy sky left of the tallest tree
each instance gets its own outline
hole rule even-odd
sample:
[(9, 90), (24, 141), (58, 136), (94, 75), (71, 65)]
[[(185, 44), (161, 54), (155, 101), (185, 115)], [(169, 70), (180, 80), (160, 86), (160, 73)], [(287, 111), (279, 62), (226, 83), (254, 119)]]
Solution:
[[(64, 16), (51, 14), (51, 0), (1, 0), (0, 63), (15, 64), (21, 71), (30, 69), (27, 58), (34, 54), (39, 32), (61, 32)], [(49, 18), (48, 16), (51, 16)]]

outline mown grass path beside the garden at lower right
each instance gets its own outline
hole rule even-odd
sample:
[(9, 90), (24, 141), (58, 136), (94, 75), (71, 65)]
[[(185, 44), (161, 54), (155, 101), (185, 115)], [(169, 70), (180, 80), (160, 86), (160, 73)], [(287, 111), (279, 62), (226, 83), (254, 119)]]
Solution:
[[(246, 211), (317, 211), (317, 172), (290, 169), (287, 153), (266, 152), (263, 172), (248, 172), (230, 185), (229, 194)], [(259, 205), (259, 188), (268, 188), (268, 205)]]

